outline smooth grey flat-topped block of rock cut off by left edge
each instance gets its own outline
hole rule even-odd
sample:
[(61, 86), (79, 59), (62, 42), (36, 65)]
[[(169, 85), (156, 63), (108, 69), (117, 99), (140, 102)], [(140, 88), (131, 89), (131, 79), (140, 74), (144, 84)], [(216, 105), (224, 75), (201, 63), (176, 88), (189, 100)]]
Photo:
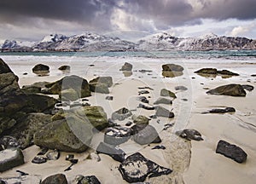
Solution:
[(20, 148), (9, 148), (0, 152), (0, 172), (10, 170), (24, 164), (24, 157)]

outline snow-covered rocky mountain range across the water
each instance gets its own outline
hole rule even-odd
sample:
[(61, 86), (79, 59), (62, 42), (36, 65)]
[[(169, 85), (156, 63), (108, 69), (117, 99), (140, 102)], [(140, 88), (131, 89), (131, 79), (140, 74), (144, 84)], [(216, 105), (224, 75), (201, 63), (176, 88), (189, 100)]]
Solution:
[(52, 34), (38, 43), (6, 40), (0, 49), (2, 51), (234, 50), (256, 49), (256, 40), (246, 37), (218, 37), (213, 33), (201, 37), (183, 38), (162, 32), (144, 37), (137, 43), (131, 43), (119, 37), (85, 32), (71, 37)]

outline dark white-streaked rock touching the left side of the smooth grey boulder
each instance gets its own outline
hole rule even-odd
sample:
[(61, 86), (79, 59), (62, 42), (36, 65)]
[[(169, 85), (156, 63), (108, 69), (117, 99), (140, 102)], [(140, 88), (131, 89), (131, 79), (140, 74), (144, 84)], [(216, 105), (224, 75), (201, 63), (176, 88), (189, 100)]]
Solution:
[(125, 127), (111, 127), (108, 128), (104, 135), (104, 142), (109, 145), (117, 146), (128, 141), (131, 137), (131, 129)]

